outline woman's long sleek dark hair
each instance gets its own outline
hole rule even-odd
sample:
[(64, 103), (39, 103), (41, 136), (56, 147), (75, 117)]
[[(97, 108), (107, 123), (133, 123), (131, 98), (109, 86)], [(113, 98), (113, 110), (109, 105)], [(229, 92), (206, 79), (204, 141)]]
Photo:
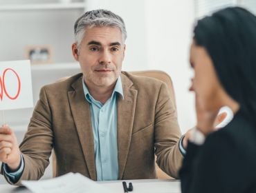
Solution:
[(255, 15), (237, 7), (219, 10), (198, 21), (194, 41), (207, 50), (226, 92), (240, 104), (246, 116), (255, 121)]

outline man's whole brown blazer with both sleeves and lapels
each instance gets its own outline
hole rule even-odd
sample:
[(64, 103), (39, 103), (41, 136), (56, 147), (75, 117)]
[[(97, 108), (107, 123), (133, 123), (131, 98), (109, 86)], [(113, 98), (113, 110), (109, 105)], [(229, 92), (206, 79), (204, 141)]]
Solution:
[[(118, 179), (156, 178), (159, 167), (178, 176), (181, 136), (176, 109), (161, 81), (122, 72), (124, 99), (118, 95)], [(24, 156), (21, 180), (37, 180), (55, 150), (56, 175), (80, 172), (96, 180), (93, 130), (82, 74), (46, 85), (20, 145)]]

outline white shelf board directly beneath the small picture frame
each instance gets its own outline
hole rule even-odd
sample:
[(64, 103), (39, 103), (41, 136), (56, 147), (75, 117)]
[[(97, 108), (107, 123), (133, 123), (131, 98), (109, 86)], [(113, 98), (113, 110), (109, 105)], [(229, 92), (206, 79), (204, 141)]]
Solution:
[(73, 63), (47, 63), (47, 64), (33, 64), (31, 70), (71, 70), (80, 69), (80, 65), (77, 62)]

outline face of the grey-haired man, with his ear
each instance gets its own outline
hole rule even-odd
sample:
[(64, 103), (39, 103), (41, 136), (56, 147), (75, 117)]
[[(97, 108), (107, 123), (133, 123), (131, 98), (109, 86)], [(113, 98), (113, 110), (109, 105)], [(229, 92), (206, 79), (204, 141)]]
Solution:
[(73, 44), (72, 49), (89, 88), (110, 87), (116, 83), (125, 57), (125, 44), (119, 28), (86, 28), (80, 48)]

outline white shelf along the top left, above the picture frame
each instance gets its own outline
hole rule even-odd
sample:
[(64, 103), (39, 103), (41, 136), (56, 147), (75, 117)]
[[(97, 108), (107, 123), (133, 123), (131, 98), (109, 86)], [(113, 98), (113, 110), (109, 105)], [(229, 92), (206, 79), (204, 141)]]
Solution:
[(85, 3), (40, 3), (26, 5), (6, 5), (0, 6), (0, 11), (16, 10), (66, 10), (66, 9), (84, 9)]

